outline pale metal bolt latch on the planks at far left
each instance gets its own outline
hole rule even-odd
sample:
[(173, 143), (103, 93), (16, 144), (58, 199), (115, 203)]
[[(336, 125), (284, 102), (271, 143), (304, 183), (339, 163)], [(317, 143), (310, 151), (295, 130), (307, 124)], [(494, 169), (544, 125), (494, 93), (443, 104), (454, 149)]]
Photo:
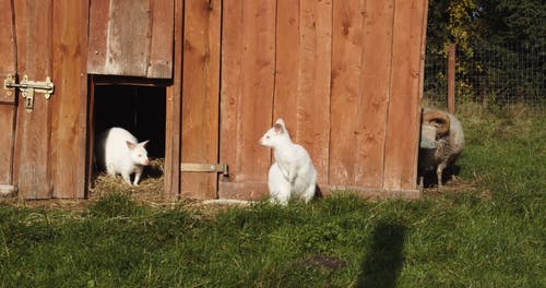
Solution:
[(27, 112), (31, 112), (34, 109), (34, 93), (44, 93), (46, 99), (51, 97), (54, 93), (54, 83), (49, 76), (46, 77), (46, 81), (29, 81), (27, 75), (23, 76), (23, 80), (20, 84), (15, 83), (15, 79), (13, 75), (8, 75), (3, 81), (3, 88), (7, 89), (7, 94), (11, 95), (11, 93), (15, 92), (15, 88), (21, 91), (23, 98), (25, 98), (25, 108)]

